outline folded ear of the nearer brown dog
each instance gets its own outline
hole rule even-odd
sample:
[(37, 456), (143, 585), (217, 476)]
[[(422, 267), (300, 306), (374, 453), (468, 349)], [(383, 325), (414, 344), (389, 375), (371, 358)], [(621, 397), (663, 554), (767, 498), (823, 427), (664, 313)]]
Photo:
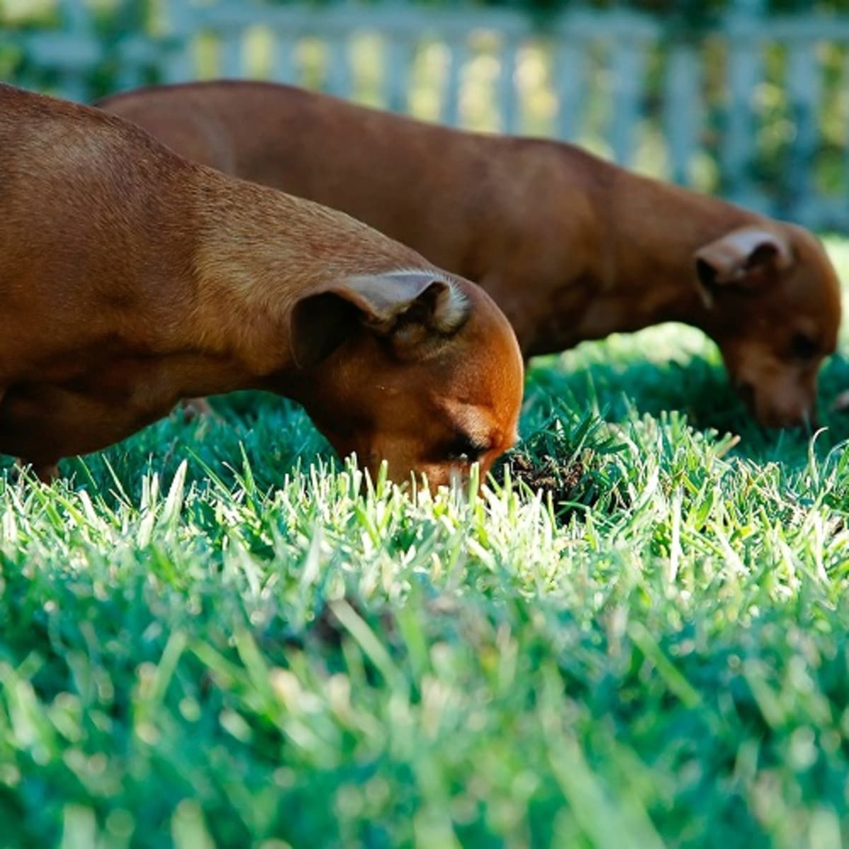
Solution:
[(453, 335), (469, 318), (469, 301), (454, 284), (425, 271), (346, 278), (295, 303), (290, 346), (300, 368), (321, 363), (355, 330), (391, 340), (402, 353)]

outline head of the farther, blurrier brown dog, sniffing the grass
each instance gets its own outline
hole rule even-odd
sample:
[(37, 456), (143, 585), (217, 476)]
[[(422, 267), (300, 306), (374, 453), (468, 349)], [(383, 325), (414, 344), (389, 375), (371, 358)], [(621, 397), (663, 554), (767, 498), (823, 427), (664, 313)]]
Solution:
[(751, 413), (767, 427), (816, 420), (817, 373), (835, 350), (840, 283), (823, 245), (780, 222), (697, 250), (706, 331)]

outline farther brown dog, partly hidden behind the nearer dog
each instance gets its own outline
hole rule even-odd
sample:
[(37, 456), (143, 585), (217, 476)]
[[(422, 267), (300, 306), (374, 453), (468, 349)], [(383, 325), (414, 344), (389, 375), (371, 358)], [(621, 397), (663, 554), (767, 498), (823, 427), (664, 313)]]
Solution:
[(682, 321), (766, 425), (815, 413), (838, 279), (807, 231), (569, 144), (434, 127), (259, 82), (107, 98), (179, 153), (356, 216), (481, 284), (526, 356)]

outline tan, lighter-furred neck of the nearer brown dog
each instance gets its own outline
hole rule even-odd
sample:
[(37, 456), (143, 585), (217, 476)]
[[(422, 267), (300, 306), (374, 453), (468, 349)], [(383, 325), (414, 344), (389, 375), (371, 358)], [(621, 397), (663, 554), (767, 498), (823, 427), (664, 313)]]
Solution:
[(295, 302), (335, 280), (402, 267), (406, 250), (341, 213), (202, 170), (194, 252), (200, 344), (238, 363), (250, 385), (290, 390)]

